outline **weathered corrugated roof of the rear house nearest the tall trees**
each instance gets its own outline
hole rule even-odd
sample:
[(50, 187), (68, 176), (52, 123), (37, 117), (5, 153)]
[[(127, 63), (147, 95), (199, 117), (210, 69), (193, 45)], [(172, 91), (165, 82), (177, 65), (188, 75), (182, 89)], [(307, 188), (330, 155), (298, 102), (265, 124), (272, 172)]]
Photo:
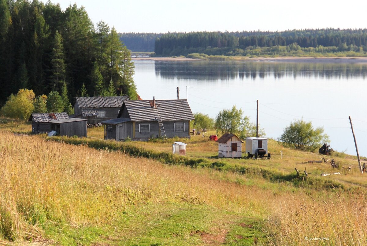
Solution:
[(129, 100), (128, 96), (107, 96), (107, 97), (75, 97), (79, 108), (118, 108), (123, 101)]

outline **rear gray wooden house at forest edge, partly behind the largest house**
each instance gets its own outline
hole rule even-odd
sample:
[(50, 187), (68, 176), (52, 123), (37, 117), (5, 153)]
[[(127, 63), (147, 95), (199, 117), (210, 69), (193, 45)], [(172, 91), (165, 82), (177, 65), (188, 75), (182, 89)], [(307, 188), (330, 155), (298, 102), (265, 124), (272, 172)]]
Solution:
[(129, 100), (129, 97), (75, 97), (75, 114), (72, 118), (86, 119), (88, 124), (97, 124), (101, 121), (117, 118), (125, 100)]

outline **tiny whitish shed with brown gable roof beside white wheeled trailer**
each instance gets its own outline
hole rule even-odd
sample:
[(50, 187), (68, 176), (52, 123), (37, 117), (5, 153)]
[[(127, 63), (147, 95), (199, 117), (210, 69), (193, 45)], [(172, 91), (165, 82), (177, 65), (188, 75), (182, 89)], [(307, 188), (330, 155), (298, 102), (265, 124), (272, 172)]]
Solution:
[(225, 133), (218, 140), (218, 157), (242, 157), (242, 143), (235, 134)]

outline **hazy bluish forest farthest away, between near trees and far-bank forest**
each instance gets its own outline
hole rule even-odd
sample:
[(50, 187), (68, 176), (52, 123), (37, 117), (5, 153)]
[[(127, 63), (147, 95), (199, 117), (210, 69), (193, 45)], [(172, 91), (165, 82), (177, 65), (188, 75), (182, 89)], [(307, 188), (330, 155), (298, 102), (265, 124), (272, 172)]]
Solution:
[(154, 51), (154, 43), (162, 33), (119, 33), (120, 40), (131, 51)]

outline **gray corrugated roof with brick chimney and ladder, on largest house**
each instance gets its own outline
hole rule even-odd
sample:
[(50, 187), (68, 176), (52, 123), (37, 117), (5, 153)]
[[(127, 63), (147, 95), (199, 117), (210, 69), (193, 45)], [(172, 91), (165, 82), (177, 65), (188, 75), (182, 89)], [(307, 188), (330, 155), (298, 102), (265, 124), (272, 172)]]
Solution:
[(195, 120), (186, 99), (180, 100), (128, 100), (121, 106), (119, 116), (127, 110), (132, 121), (191, 121)]

